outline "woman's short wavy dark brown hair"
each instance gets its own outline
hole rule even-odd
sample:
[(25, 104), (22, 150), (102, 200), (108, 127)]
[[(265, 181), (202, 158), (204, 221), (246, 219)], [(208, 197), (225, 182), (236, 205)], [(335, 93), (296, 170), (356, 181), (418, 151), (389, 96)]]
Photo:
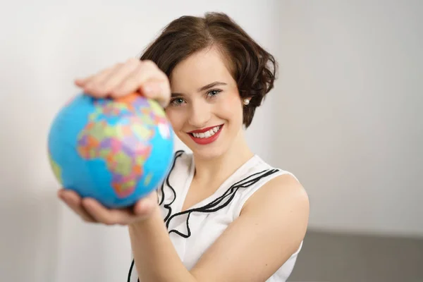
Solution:
[(204, 17), (182, 16), (173, 20), (140, 59), (154, 61), (170, 78), (180, 61), (212, 46), (228, 59), (241, 99), (250, 98), (250, 104), (243, 107), (243, 124), (247, 128), (255, 109), (274, 87), (277, 63), (226, 14), (206, 13)]

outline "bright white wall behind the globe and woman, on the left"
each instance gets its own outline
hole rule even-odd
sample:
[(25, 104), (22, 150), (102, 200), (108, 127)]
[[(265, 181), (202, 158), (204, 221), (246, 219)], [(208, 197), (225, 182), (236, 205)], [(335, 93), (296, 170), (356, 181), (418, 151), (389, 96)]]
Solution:
[[(140, 54), (183, 14), (224, 11), (274, 51), (277, 1), (226, 2), (21, 0), (1, 7), (1, 281), (125, 281), (126, 229), (82, 223), (56, 199), (49, 125), (78, 92), (74, 78)], [(260, 109), (255, 135), (249, 133), (265, 159), (272, 158), (271, 132), (260, 123), (271, 124), (270, 106)]]

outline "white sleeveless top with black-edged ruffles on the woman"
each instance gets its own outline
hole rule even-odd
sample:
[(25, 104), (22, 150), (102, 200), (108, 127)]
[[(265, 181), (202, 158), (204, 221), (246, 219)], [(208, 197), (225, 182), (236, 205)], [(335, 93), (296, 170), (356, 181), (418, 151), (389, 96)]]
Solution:
[[(292, 173), (266, 164), (257, 155), (240, 166), (210, 197), (180, 212), (194, 176), (192, 154), (178, 151), (166, 180), (157, 191), (159, 204), (169, 236), (176, 252), (190, 270), (202, 254), (225, 231), (241, 212), (248, 198), (264, 183), (276, 176)], [(295, 176), (293, 176), (295, 177)], [(298, 250), (266, 282), (285, 282), (293, 271)], [(128, 282), (137, 282), (134, 261)], [(141, 281), (142, 282), (142, 281)]]

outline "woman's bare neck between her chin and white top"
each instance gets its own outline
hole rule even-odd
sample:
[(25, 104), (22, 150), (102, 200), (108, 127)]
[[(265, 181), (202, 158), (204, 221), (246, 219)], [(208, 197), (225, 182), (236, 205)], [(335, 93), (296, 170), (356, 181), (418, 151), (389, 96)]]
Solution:
[(194, 154), (195, 182), (220, 185), (253, 156), (254, 153), (248, 147), (243, 131), (240, 130), (231, 147), (219, 157), (202, 159)]

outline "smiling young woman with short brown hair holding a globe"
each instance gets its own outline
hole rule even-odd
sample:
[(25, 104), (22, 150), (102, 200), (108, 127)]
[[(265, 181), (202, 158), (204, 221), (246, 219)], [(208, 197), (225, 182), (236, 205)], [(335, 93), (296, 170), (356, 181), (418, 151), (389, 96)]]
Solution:
[(128, 281), (286, 281), (309, 200), (292, 173), (266, 164), (243, 135), (275, 73), (274, 57), (231, 18), (207, 13), (173, 20), (140, 59), (75, 80), (94, 97), (157, 99), (192, 150), (176, 152), (163, 185), (132, 209), (59, 191), (85, 221), (128, 226)]

